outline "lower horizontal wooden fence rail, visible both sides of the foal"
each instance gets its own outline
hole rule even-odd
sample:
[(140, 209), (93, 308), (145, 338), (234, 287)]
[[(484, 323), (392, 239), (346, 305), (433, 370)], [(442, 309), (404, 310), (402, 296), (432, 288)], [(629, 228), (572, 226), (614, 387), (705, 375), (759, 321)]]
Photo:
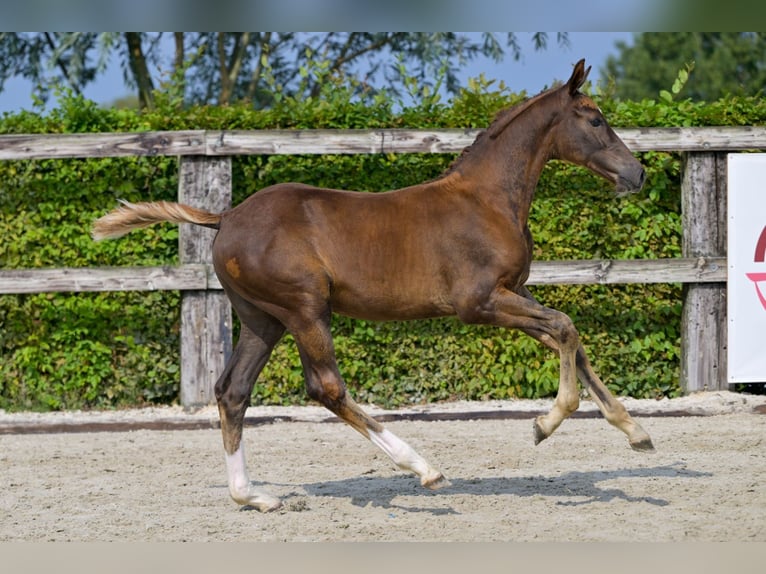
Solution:
[[(721, 283), (726, 258), (534, 261), (528, 285)], [(212, 265), (0, 270), (0, 294), (221, 289)]]

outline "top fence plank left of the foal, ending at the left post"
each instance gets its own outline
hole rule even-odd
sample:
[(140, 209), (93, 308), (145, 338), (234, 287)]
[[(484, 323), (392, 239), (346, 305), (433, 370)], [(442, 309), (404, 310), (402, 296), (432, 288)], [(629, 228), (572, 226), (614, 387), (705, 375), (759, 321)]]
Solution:
[(0, 159), (201, 155), (203, 130), (0, 136)]

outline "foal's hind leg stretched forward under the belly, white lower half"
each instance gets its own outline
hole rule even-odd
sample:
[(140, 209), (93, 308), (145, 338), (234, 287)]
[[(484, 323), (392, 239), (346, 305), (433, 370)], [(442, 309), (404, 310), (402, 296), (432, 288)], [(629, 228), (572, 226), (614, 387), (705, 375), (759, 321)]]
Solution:
[(323, 319), (302, 322), (291, 329), (298, 345), (309, 396), (322, 403), (352, 428), (385, 452), (401, 469), (420, 477), (432, 490), (449, 486), (441, 472), (433, 468), (411, 446), (365, 413), (346, 392), (335, 360), (329, 328), (329, 312)]

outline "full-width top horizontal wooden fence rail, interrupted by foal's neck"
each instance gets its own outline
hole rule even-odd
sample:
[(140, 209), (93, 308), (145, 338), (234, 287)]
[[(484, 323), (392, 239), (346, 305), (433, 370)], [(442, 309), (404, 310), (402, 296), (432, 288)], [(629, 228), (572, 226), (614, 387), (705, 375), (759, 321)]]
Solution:
[[(128, 156), (457, 153), (479, 129), (259, 130), (0, 135), (0, 160)], [(766, 126), (620, 128), (634, 152), (741, 151), (766, 146)]]

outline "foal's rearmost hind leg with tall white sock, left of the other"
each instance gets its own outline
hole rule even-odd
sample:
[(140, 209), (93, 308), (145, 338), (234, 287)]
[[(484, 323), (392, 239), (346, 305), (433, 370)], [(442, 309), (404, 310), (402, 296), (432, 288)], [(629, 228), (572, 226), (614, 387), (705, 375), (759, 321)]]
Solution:
[(239, 341), (215, 386), (229, 493), (238, 504), (268, 512), (279, 508), (281, 503), (250, 483), (242, 445), (242, 426), (253, 385), (285, 328), (273, 317), (255, 309), (248, 309), (247, 313), (238, 309), (238, 313), (242, 320)]

